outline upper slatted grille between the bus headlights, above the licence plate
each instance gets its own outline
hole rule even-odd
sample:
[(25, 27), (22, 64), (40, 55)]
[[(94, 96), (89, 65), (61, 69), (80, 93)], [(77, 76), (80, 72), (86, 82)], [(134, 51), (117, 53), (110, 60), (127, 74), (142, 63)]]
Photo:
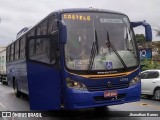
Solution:
[(114, 89), (124, 89), (124, 88), (128, 88), (128, 83), (126, 83), (126, 84), (113, 84), (112, 87), (108, 87), (107, 85), (87, 86), (87, 89), (88, 89), (89, 92), (114, 90)]

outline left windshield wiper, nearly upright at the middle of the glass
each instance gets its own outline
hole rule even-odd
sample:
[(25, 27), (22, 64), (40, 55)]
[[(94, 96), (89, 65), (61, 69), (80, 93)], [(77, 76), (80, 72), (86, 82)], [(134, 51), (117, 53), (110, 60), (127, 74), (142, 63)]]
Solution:
[(96, 54), (98, 53), (98, 37), (97, 37), (96, 30), (94, 32), (94, 35), (95, 35), (95, 41), (92, 43), (92, 49), (91, 49), (89, 64), (88, 64), (88, 68), (87, 68), (88, 72), (90, 70), (92, 70), (94, 58), (95, 58)]

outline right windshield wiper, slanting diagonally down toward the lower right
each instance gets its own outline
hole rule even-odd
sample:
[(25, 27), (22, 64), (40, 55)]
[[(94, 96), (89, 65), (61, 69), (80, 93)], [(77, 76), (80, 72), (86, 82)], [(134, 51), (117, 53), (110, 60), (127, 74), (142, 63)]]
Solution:
[(116, 54), (116, 56), (119, 58), (120, 62), (122, 63), (123, 67), (125, 69), (127, 69), (127, 65), (125, 64), (124, 60), (122, 59), (122, 57), (119, 55), (119, 53), (117, 52), (115, 47), (110, 42), (110, 38), (109, 38), (109, 33), (108, 32), (107, 32), (107, 43), (106, 43), (106, 46), (108, 47), (109, 51), (111, 51), (110, 49), (113, 50), (113, 52)]

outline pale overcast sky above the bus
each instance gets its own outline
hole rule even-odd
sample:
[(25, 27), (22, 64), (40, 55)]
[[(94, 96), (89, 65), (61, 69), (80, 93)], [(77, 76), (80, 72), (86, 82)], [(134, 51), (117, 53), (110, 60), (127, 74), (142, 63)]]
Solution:
[[(131, 21), (146, 20), (152, 29), (160, 29), (160, 0), (0, 0), (0, 46), (16, 39), (24, 27), (31, 27), (49, 13), (65, 8), (101, 8), (119, 11)], [(135, 29), (144, 33), (143, 27)], [(160, 41), (153, 31), (153, 41)]]

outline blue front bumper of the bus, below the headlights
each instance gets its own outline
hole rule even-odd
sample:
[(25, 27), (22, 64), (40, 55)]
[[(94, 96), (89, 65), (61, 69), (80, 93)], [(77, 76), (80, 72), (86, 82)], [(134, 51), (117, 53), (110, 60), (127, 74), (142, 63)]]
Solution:
[(128, 88), (118, 89), (117, 93), (118, 96), (116, 98), (105, 98), (104, 91), (89, 92), (67, 88), (65, 91), (64, 108), (81, 109), (136, 102), (140, 100), (141, 84), (139, 82)]

